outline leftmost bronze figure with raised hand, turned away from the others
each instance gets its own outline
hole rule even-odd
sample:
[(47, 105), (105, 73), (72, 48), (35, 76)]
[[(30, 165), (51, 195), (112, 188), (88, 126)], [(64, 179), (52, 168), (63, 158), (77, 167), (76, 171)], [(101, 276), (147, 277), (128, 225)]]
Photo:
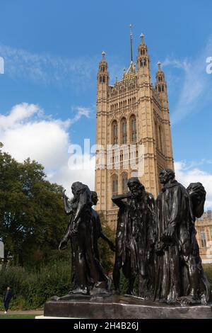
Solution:
[(66, 235), (59, 244), (64, 249), (71, 240), (71, 276), (74, 283), (70, 293), (90, 295), (108, 289), (108, 278), (95, 257), (92, 233), (92, 201), (88, 186), (77, 181), (71, 186), (73, 199), (69, 202), (65, 194), (64, 208), (71, 215)]

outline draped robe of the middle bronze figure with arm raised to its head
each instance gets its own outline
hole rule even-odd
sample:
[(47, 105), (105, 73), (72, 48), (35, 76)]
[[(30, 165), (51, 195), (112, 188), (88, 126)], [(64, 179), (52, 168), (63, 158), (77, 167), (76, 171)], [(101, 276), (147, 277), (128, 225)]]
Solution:
[[(133, 278), (139, 274), (150, 281), (153, 275), (154, 198), (151, 193), (144, 192), (143, 196), (127, 201), (120, 200), (119, 196), (113, 200), (119, 205), (116, 256), (122, 259), (124, 276)], [(142, 290), (143, 293), (146, 295), (147, 291)]]

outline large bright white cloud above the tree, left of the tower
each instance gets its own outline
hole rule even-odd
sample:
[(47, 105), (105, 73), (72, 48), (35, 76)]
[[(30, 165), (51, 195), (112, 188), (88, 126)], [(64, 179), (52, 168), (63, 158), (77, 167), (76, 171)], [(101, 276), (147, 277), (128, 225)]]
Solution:
[(8, 115), (0, 115), (0, 142), (4, 144), (4, 151), (19, 162), (28, 157), (40, 162), (45, 166), (49, 181), (62, 184), (67, 190), (73, 181), (79, 180), (93, 188), (94, 164), (87, 163), (83, 169), (81, 163), (81, 170), (70, 170), (68, 166), (71, 145), (68, 130), (82, 116), (90, 117), (89, 108), (77, 106), (74, 110), (72, 119), (62, 121), (45, 116), (35, 104), (13, 106)]

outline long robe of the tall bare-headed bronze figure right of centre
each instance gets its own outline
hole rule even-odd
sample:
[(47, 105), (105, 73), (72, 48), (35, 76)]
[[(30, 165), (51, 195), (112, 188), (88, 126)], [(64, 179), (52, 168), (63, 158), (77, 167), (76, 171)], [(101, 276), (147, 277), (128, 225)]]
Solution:
[[(156, 256), (155, 300), (175, 303), (182, 294), (181, 247), (189, 239), (189, 227), (192, 222), (189, 193), (177, 181), (165, 185), (156, 200), (158, 248)], [(175, 227), (173, 239), (164, 239), (168, 226)], [(184, 233), (184, 235), (182, 235)], [(184, 237), (182, 237), (184, 236)]]

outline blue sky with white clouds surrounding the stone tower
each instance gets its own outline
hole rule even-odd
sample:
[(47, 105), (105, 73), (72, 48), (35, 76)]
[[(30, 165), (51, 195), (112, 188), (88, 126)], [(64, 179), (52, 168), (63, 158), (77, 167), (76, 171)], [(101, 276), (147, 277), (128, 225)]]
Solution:
[[(134, 60), (143, 33), (153, 83), (158, 60), (163, 64), (178, 179), (184, 185), (197, 179), (206, 183), (211, 206), (212, 74), (206, 73), (211, 11), (210, 0), (0, 0), (5, 149), (20, 160), (26, 155), (40, 160), (49, 179), (65, 187), (81, 177), (59, 164), (67, 164), (70, 143), (82, 145), (84, 137), (95, 143), (98, 62), (105, 50), (110, 83), (122, 77), (129, 66), (131, 23)], [(83, 177), (93, 186), (93, 173), (87, 170)]]

